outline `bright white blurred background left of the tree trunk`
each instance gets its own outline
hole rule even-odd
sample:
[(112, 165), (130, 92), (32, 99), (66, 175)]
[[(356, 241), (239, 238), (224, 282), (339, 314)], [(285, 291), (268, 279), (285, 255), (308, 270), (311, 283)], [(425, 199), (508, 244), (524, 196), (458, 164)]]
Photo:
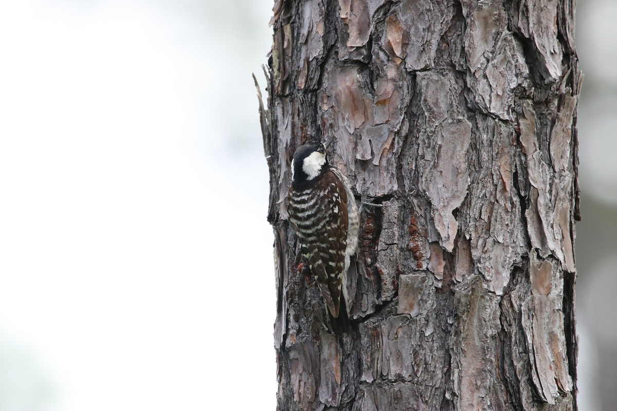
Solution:
[(0, 411), (275, 408), (271, 4), (233, 3), (1, 2)]

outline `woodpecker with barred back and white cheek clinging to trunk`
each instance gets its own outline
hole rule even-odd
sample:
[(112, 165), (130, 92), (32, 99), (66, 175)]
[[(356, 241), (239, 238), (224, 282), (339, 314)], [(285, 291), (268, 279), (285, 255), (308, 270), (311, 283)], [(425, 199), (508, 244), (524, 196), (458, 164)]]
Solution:
[[(328, 164), (326, 145), (307, 143), (291, 161), (289, 223), (326, 307), (339, 317), (347, 303), (347, 269), (358, 245), (360, 216), (347, 177)], [(347, 309), (347, 306), (344, 307)]]

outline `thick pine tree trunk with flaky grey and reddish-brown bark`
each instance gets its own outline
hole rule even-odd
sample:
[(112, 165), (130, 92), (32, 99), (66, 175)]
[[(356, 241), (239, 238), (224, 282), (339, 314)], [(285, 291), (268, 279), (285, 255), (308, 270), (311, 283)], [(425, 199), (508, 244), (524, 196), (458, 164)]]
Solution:
[[(576, 410), (573, 0), (276, 0), (260, 105), (278, 409)], [(261, 104), (261, 103), (260, 103)], [(297, 271), (291, 155), (364, 206), (352, 332)]]

